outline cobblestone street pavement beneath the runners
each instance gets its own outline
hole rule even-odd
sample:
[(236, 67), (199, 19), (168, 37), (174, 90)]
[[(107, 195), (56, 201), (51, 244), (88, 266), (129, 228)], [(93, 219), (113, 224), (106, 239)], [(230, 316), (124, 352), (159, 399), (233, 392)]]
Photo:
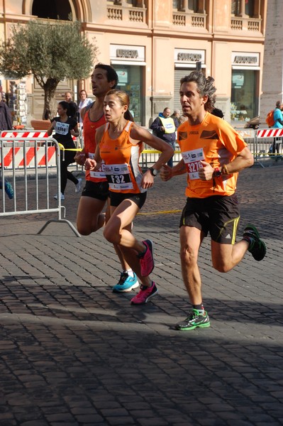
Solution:
[[(134, 222), (155, 243), (160, 291), (142, 307), (130, 305), (134, 292), (112, 293), (119, 264), (101, 230), (79, 238), (52, 223), (38, 235), (50, 214), (0, 218), (0, 425), (282, 425), (282, 175), (282, 165), (240, 173), (238, 235), (255, 223), (267, 256), (247, 253), (221, 274), (205, 239), (211, 327), (191, 332), (173, 329), (189, 307), (178, 240), (185, 176), (157, 178)], [(75, 224), (70, 181), (65, 196)]]

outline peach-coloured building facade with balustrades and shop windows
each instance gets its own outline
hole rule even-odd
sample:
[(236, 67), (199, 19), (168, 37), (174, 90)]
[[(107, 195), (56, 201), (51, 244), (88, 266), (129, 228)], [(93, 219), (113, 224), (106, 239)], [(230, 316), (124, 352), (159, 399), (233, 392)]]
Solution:
[[(97, 62), (116, 69), (138, 124), (179, 108), (180, 78), (201, 66), (216, 80), (217, 107), (240, 126), (259, 114), (266, 14), (267, 0), (2, 0), (0, 36), (30, 18), (72, 16), (98, 46)], [(26, 87), (28, 116), (41, 118), (43, 93), (32, 78)], [(57, 99), (70, 90), (77, 100), (81, 88), (91, 95), (90, 79), (61, 82)]]

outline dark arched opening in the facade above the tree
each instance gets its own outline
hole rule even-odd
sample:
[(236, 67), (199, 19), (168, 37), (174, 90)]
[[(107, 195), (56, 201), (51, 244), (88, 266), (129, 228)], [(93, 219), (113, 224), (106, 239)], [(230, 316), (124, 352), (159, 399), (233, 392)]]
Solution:
[(32, 14), (38, 18), (72, 20), (72, 9), (69, 0), (34, 0)]

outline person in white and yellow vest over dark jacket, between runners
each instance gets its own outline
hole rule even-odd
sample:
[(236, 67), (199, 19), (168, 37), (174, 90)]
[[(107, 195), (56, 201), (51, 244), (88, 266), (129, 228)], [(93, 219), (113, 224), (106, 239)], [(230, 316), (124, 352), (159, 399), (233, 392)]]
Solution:
[[(173, 149), (175, 149), (176, 142), (176, 131), (179, 126), (177, 119), (170, 117), (170, 108), (165, 108), (163, 112), (160, 112), (159, 116), (152, 122), (150, 129), (157, 138), (163, 139), (163, 141), (169, 143)], [(168, 161), (167, 165), (173, 167), (173, 156)]]

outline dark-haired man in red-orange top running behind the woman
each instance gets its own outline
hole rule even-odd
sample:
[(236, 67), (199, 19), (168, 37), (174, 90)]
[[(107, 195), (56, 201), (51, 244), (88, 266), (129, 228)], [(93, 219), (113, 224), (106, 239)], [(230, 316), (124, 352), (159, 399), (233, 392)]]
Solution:
[[(106, 93), (116, 87), (118, 75), (111, 65), (98, 63), (91, 75), (92, 93), (95, 102), (92, 102), (81, 111), (84, 125), (84, 148), (75, 155), (74, 160), (84, 165), (87, 158), (94, 158), (96, 149), (96, 129), (106, 123), (104, 117), (104, 97)], [(86, 170), (86, 185), (82, 190), (77, 209), (77, 230), (82, 235), (96, 232), (109, 219), (110, 207), (106, 214), (102, 212), (109, 197), (109, 184), (102, 170)], [(120, 279), (113, 285), (113, 292), (126, 293), (138, 287), (138, 277), (131, 266), (126, 262), (123, 253), (117, 244), (113, 244), (121, 263)]]

